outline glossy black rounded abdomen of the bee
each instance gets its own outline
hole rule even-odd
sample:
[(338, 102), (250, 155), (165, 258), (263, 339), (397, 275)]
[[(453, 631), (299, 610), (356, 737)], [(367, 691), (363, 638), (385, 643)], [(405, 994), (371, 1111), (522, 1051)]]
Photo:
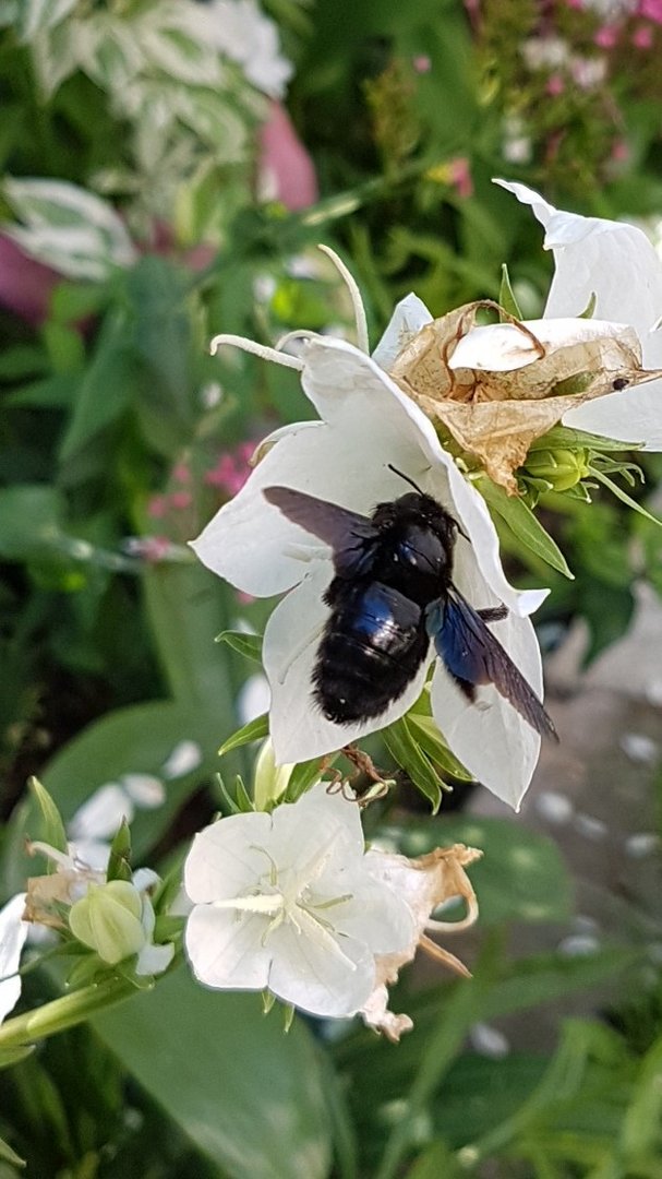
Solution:
[(315, 699), (336, 724), (368, 720), (404, 692), (429, 647), (416, 602), (380, 582), (346, 586), (322, 638)]

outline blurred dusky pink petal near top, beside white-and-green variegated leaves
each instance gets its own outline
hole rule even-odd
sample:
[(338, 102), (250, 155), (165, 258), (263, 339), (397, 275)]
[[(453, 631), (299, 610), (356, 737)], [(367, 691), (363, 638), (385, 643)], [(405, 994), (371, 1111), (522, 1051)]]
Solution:
[(312, 160), (294, 131), (285, 107), (272, 100), (260, 130), (258, 189), (265, 200), (280, 200), (287, 209), (307, 209), (318, 198)]

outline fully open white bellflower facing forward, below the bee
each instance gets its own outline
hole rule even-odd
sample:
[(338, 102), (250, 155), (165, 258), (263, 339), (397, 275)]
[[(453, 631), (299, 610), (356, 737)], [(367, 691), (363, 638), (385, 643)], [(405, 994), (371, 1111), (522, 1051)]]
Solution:
[(186, 953), (206, 987), (270, 990), (313, 1015), (353, 1015), (376, 955), (415, 938), (415, 918), (364, 852), (356, 802), (318, 783), (271, 815), (219, 819), (184, 869)]

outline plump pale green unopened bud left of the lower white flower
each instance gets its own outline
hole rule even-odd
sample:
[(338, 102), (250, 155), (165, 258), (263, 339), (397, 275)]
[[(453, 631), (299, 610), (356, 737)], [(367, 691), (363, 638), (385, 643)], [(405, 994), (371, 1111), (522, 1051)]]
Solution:
[(135, 885), (110, 881), (91, 884), (86, 895), (72, 905), (69, 929), (79, 942), (114, 966), (145, 946), (141, 917), (143, 900)]

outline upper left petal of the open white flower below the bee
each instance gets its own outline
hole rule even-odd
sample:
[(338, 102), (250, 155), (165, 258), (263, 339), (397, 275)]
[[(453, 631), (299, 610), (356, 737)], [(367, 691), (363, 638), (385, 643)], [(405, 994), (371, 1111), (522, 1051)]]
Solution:
[(199, 831), (184, 865), (184, 887), (197, 904), (238, 896), (269, 868), (264, 847), (271, 816), (230, 815)]

